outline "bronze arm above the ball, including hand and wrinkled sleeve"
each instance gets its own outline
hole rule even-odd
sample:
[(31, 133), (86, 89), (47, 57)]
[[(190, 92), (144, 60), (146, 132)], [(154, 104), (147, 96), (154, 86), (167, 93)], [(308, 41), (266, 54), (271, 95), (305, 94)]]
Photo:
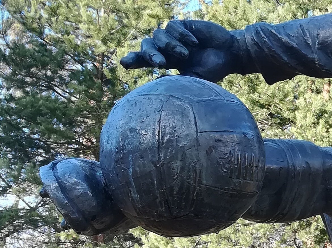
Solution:
[(227, 31), (206, 21), (170, 21), (122, 58), (124, 68), (177, 69), (216, 83), (232, 73), (261, 73), (268, 84), (303, 74), (332, 77), (332, 14)]

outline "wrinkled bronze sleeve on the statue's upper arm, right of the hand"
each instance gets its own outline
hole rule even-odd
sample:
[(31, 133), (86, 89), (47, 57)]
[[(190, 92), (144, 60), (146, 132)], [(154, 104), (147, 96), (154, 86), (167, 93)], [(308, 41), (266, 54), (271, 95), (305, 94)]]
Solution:
[(332, 77), (332, 14), (244, 30), (255, 71), (272, 85), (296, 75)]

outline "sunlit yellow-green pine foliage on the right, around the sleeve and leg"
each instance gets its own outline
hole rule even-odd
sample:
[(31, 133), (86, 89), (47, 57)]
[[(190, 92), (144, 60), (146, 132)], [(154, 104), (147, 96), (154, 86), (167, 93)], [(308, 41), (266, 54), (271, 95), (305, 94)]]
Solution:
[[(332, 12), (323, 0), (212, 0), (187, 18), (212, 21), (228, 30), (257, 23), (281, 23)], [(297, 76), (269, 86), (261, 75), (229, 75), (219, 84), (236, 94), (254, 114), (264, 138), (304, 139), (332, 146), (330, 80)], [(218, 234), (163, 238), (135, 229), (143, 247), (322, 247), (328, 236), (319, 216), (285, 224), (257, 224), (240, 219)], [(161, 246), (158, 246), (161, 244)]]

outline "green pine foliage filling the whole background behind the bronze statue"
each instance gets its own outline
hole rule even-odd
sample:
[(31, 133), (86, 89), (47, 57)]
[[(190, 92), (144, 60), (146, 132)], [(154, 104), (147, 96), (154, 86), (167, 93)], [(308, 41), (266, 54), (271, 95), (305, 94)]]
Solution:
[[(125, 71), (119, 60), (172, 19), (228, 30), (332, 12), (331, 0), (6, 0), (0, 36), (0, 247), (328, 247), (320, 217), (285, 224), (239, 220), (219, 233), (165, 238), (135, 228), (113, 237), (62, 231), (38, 197), (38, 168), (61, 156), (99, 157), (99, 135), (115, 101), (165, 70)], [(263, 137), (332, 146), (330, 80), (297, 76), (268, 86), (261, 75), (229, 75), (221, 86), (254, 114)], [(14, 203), (1, 206), (3, 199)]]

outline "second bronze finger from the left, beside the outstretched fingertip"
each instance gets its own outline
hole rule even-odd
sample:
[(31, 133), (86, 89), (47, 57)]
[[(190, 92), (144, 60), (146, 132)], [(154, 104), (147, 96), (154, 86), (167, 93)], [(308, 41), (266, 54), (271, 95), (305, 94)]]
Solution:
[(166, 59), (158, 52), (158, 47), (153, 42), (152, 38), (145, 38), (141, 42), (141, 53), (143, 58), (159, 69), (165, 68)]

